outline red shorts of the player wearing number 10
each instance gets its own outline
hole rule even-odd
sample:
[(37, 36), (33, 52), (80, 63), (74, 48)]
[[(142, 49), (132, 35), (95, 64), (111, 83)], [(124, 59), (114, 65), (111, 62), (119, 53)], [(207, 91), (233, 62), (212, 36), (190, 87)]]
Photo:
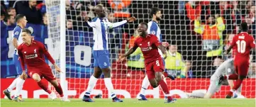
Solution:
[(238, 76), (247, 76), (250, 62), (248, 60), (239, 60), (235, 62), (235, 71), (238, 72)]

